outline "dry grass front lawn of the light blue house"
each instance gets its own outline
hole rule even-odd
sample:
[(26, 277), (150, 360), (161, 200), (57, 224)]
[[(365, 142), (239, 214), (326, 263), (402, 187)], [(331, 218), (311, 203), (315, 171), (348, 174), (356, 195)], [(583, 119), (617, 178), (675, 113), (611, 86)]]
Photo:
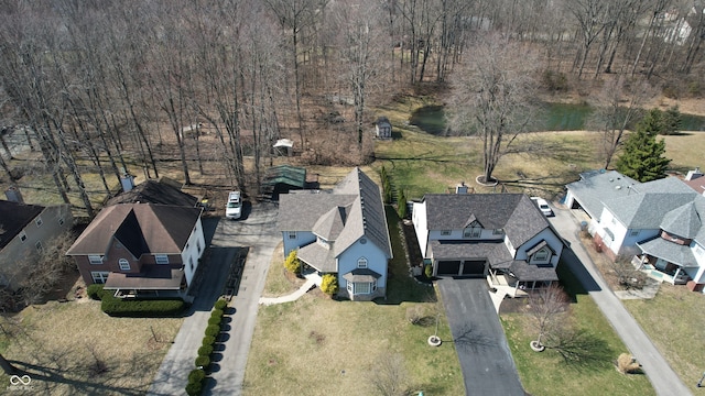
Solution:
[[(337, 301), (314, 289), (294, 302), (260, 307), (245, 373), (246, 395), (378, 394), (372, 374), (397, 366), (403, 367), (410, 391), (465, 394), (453, 344), (426, 343), (435, 331), (435, 293), (408, 275), (399, 219), (389, 209), (394, 258), (387, 300)], [(281, 260), (273, 260), (270, 272), (281, 274)], [(424, 324), (406, 320), (408, 310), (415, 309), (424, 312)], [(444, 317), (442, 312), (438, 336), (449, 340)]]

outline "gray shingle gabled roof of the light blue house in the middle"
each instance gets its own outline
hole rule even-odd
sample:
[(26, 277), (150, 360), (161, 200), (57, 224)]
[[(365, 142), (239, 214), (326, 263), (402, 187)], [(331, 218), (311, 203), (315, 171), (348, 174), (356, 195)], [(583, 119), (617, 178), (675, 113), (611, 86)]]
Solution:
[[(341, 229), (338, 217), (343, 223)], [(324, 233), (337, 233), (334, 243), (335, 256), (362, 237), (377, 245), (388, 257), (392, 256), (380, 189), (357, 167), (329, 193), (296, 191), (280, 196), (279, 229), (312, 231), (322, 237)]]

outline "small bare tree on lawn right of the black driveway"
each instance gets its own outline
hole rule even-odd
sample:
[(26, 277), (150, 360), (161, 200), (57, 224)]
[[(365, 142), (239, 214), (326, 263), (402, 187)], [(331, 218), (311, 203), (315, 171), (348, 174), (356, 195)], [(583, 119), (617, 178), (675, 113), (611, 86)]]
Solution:
[(564, 320), (567, 308), (568, 297), (561, 286), (551, 285), (529, 295), (527, 314), (539, 332), (536, 340), (531, 341), (532, 349), (542, 351), (545, 348), (544, 338), (555, 333), (558, 324)]

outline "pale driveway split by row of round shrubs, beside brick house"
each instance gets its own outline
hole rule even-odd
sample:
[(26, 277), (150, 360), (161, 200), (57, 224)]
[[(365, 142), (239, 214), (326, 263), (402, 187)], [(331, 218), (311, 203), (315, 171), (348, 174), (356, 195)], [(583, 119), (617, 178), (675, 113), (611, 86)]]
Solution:
[[(264, 288), (272, 253), (281, 240), (276, 232), (276, 206), (252, 207), (238, 221), (220, 219), (214, 227), (208, 260), (199, 267), (197, 296), (191, 315), (174, 339), (148, 395), (183, 395), (188, 373), (200, 346), (213, 302), (221, 295), (231, 265), (238, 265), (237, 253), (245, 250), (247, 258), (239, 288), (226, 312), (226, 333), (219, 345), (218, 359), (204, 395), (239, 395), (250, 350), (259, 297)], [(204, 229), (206, 226), (204, 224)]]

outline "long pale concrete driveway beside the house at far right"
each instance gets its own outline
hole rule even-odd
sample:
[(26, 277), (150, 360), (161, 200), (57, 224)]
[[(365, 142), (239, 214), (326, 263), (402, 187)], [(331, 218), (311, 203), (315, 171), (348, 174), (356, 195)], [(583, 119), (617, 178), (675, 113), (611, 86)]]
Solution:
[(571, 215), (571, 210), (556, 208), (554, 212), (555, 217), (551, 218), (550, 221), (570, 245), (570, 249), (563, 251), (564, 262), (571, 267), (575, 276), (581, 279), (585, 289), (593, 297), (631, 354), (641, 363), (657, 395), (692, 395), (643, 329), (603, 279), (581, 243), (578, 238), (579, 226)]

